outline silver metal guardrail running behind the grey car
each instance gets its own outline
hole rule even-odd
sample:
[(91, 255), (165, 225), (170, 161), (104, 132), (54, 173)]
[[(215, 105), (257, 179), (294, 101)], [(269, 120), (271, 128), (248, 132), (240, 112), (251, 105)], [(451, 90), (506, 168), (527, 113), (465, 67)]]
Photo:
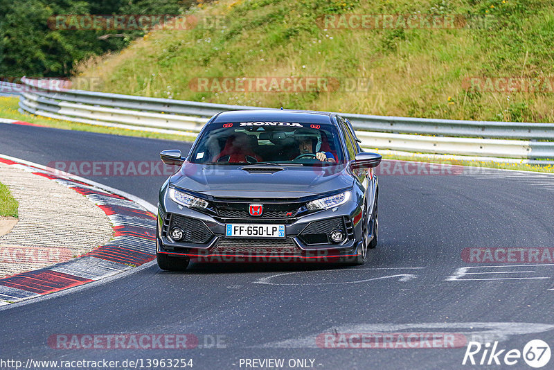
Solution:
[[(96, 91), (56, 89), (22, 78), (21, 111), (69, 121), (159, 130), (199, 132), (207, 118), (242, 105), (145, 98)], [(554, 159), (554, 123), (456, 121), (341, 114), (348, 118), (361, 146), (402, 152), (522, 159), (550, 163)], [(433, 136), (429, 136), (433, 135)], [(540, 141), (550, 140), (550, 141)]]

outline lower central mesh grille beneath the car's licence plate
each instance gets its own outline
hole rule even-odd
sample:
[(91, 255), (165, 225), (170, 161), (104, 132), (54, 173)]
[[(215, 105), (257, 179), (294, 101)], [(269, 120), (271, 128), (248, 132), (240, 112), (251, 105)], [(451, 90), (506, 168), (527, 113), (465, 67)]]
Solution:
[(299, 255), (301, 254), (301, 249), (296, 246), (292, 238), (264, 240), (221, 237), (210, 252), (217, 254)]

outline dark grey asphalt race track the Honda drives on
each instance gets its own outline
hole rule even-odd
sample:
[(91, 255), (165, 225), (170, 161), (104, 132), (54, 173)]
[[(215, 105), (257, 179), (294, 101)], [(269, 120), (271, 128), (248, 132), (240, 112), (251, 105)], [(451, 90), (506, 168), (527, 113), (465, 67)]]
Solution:
[[(0, 124), (0, 153), (44, 165), (156, 161), (163, 149), (186, 152), (189, 146)], [(166, 176), (88, 178), (156, 204)], [(362, 267), (194, 264), (187, 272), (168, 273), (154, 264), (93, 288), (0, 310), (0, 359), (192, 358), (193, 369), (245, 369), (241, 359), (283, 358), (289, 369), (289, 359), (306, 358), (314, 359), (315, 369), (467, 369), (485, 366), (462, 365), (466, 346), (328, 349), (315, 338), (463, 333), (468, 341), (498, 340), (499, 349), (521, 351), (535, 339), (553, 347), (554, 265), (466, 263), (461, 252), (554, 247), (554, 177), (501, 171), (381, 175), (379, 187), (379, 245)], [(48, 337), (63, 333), (191, 333), (199, 347), (48, 346)], [(224, 348), (210, 345), (217, 335)], [(521, 359), (490, 368), (530, 369)]]

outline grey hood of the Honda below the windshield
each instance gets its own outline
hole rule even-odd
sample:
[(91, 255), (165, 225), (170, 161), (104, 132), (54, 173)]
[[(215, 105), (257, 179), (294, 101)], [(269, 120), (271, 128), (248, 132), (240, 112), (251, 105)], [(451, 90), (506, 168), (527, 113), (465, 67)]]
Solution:
[[(282, 167), (273, 173), (247, 172), (244, 166), (185, 162), (170, 184), (214, 197), (304, 197), (352, 187), (348, 166)], [(260, 166), (258, 166), (260, 168)], [(264, 168), (276, 169), (274, 166)]]

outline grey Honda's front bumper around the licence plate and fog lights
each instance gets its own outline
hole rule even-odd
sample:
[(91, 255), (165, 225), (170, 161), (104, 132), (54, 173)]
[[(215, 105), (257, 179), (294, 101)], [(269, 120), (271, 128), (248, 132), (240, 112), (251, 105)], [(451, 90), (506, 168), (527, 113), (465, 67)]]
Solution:
[[(354, 258), (361, 244), (361, 207), (350, 201), (300, 218), (220, 218), (180, 207), (170, 200), (159, 205), (157, 252), (170, 256), (215, 262), (337, 262)], [(194, 243), (170, 238), (170, 226), (179, 222)], [(229, 238), (228, 223), (285, 224), (285, 238)], [(341, 243), (324, 240), (321, 234), (343, 229)], [(310, 234), (311, 233), (311, 234)]]

